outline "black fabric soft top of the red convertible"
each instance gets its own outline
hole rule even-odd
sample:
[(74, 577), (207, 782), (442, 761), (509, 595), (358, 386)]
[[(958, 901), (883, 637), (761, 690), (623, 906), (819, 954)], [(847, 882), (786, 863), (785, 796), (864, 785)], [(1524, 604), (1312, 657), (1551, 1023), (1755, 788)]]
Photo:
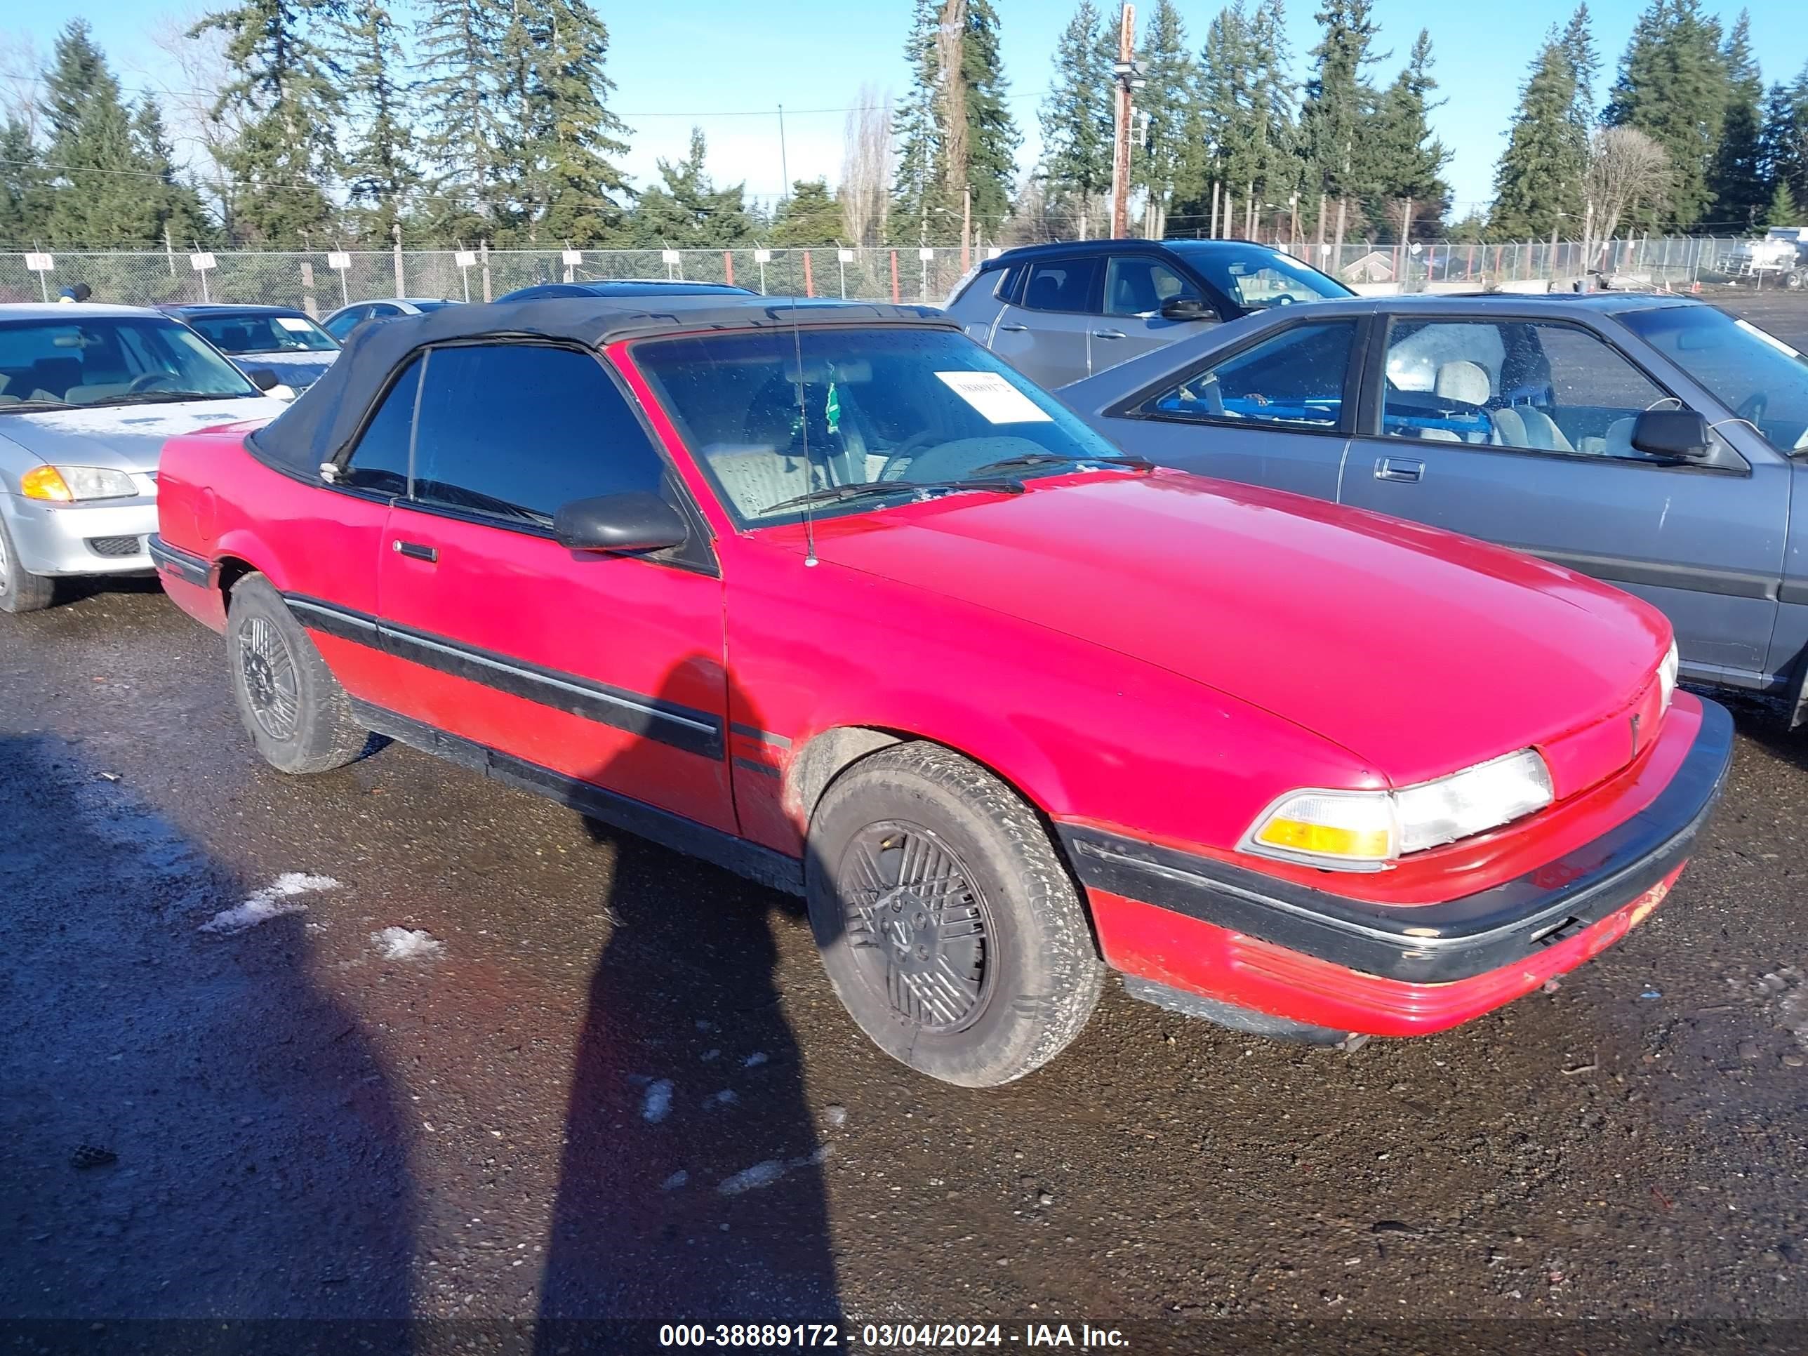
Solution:
[[(832, 302), (796, 297), (550, 297), (483, 306), (445, 306), (360, 325), (325, 374), (289, 409), (251, 434), (271, 465), (313, 476), (347, 447), (391, 376), (428, 344), (483, 338), (550, 338), (595, 349), (622, 338), (700, 329), (799, 325), (935, 325), (958, 329), (933, 306)], [(546, 392), (557, 400), (557, 391)]]

